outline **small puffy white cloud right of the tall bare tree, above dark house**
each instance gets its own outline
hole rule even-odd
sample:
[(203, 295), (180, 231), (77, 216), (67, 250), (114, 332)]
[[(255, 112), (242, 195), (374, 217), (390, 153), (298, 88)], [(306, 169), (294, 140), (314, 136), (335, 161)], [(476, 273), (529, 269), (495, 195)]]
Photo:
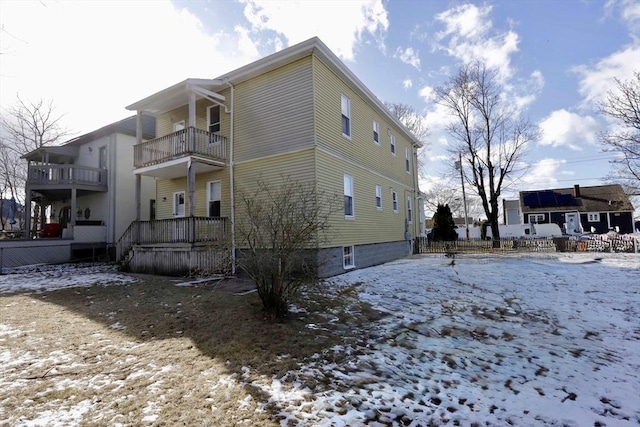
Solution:
[(580, 116), (567, 110), (556, 110), (539, 124), (543, 132), (539, 145), (566, 146), (582, 150), (585, 145), (595, 145), (600, 130), (599, 122), (591, 116)]

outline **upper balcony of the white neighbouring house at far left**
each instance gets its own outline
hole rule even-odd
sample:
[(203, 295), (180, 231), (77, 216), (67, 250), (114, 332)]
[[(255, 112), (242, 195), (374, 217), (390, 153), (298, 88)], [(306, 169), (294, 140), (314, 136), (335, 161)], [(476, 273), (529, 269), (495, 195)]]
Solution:
[(107, 191), (106, 169), (77, 165), (30, 165), (27, 184), (33, 190), (64, 190), (79, 188)]

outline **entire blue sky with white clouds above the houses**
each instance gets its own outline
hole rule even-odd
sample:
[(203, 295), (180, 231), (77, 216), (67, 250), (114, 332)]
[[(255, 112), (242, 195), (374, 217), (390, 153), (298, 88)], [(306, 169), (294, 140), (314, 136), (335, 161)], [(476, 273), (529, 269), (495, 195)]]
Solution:
[(50, 99), (82, 134), (128, 117), (126, 105), (174, 83), (217, 77), (314, 36), (381, 100), (424, 117), (423, 191), (452, 172), (451, 117), (433, 90), (465, 62), (495, 70), (541, 131), (508, 198), (604, 183), (613, 155), (598, 135), (614, 124), (597, 103), (615, 78), (640, 70), (634, 0), (4, 0), (0, 108), (17, 95)]

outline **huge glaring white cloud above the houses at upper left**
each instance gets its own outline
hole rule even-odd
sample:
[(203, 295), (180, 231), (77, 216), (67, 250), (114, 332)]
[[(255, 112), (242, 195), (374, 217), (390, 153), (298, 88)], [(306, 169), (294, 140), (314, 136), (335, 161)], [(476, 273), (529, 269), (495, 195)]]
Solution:
[(207, 32), (169, 1), (115, 5), (0, 2), (0, 26), (16, 36), (2, 37), (0, 105), (18, 93), (51, 99), (64, 126), (85, 133), (131, 115), (126, 105), (158, 90), (259, 57), (241, 27)]

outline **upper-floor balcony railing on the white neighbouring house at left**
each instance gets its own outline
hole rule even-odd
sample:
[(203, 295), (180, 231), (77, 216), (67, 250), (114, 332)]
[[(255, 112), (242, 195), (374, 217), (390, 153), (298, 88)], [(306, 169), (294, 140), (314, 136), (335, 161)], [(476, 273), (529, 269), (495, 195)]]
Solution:
[(77, 165), (31, 165), (28, 184), (107, 186), (107, 170)]

